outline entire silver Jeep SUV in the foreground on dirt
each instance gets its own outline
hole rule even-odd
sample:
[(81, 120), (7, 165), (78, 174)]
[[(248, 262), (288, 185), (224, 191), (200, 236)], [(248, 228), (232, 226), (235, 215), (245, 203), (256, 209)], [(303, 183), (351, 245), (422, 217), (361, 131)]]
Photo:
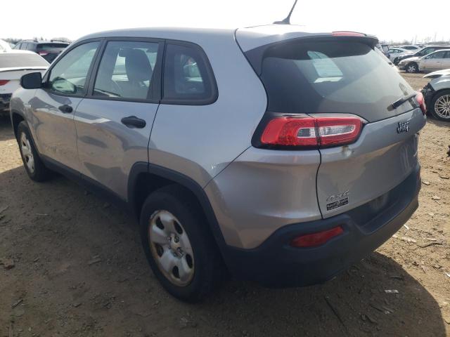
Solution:
[(267, 286), (334, 277), (418, 207), (425, 105), (375, 37), (298, 29), (79, 39), (13, 94), (28, 176), (58, 171), (127, 206), (182, 300), (224, 270)]

